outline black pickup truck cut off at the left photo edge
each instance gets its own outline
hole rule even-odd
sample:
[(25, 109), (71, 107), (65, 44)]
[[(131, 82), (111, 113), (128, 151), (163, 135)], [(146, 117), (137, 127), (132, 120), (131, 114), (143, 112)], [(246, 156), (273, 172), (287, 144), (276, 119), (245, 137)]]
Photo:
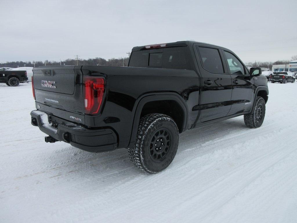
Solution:
[(0, 83), (16, 87), (20, 82), (28, 81), (27, 71), (23, 70), (0, 70)]

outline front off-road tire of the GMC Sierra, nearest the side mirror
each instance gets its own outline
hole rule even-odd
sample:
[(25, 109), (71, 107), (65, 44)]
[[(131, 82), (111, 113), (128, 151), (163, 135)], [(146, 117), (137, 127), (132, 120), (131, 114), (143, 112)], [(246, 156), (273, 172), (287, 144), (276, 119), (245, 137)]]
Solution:
[[(258, 112), (260, 107), (262, 107), (262, 114), (259, 120)], [(249, 128), (259, 128), (265, 117), (265, 100), (262, 97), (257, 97), (255, 105), (253, 107), (252, 113), (244, 115), (244, 123)]]

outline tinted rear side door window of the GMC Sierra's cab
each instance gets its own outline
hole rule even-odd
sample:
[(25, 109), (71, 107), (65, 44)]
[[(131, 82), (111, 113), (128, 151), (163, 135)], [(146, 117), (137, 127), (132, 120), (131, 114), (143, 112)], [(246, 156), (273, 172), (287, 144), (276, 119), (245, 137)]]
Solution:
[(198, 47), (202, 66), (211, 73), (224, 73), (222, 59), (218, 49)]

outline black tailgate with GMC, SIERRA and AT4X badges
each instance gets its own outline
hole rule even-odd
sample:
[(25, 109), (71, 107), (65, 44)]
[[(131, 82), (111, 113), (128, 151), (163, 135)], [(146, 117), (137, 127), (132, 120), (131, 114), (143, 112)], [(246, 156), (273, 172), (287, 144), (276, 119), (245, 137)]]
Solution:
[(81, 66), (34, 68), (36, 108), (84, 124), (82, 80)]

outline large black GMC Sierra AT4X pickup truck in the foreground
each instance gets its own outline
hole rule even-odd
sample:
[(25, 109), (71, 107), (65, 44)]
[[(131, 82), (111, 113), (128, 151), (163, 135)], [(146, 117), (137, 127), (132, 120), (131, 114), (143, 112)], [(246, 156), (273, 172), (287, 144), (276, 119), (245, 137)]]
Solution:
[(179, 133), (244, 115), (265, 117), (267, 78), (230, 50), (181, 41), (138, 46), (128, 67), (33, 69), (31, 124), (46, 142), (102, 152), (128, 148), (133, 164), (157, 173), (172, 162)]

